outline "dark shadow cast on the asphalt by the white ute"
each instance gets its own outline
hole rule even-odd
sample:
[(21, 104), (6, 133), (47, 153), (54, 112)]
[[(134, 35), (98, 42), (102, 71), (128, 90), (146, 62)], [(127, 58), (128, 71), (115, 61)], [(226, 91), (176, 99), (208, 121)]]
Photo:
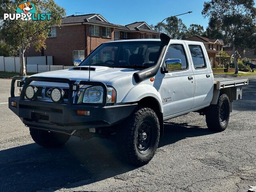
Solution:
[[(187, 123), (165, 122), (159, 148), (186, 137), (212, 134), (207, 128)], [(36, 191), (65, 185), (70, 187), (94, 183), (138, 167), (124, 164), (116, 143), (92, 138), (80, 142), (70, 138), (64, 148), (47, 149), (35, 143), (0, 151), (0, 191)]]

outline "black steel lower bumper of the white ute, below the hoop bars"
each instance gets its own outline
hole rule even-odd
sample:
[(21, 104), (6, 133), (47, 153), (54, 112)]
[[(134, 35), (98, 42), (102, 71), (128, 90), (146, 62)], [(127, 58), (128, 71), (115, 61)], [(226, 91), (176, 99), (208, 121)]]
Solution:
[[(11, 102), (16, 102), (16, 107)], [(116, 124), (132, 113), (137, 104), (115, 106), (67, 105), (53, 102), (20, 100), (9, 97), (9, 108), (28, 127), (46, 130), (72, 131)], [(77, 110), (90, 111), (90, 116), (78, 115)]]

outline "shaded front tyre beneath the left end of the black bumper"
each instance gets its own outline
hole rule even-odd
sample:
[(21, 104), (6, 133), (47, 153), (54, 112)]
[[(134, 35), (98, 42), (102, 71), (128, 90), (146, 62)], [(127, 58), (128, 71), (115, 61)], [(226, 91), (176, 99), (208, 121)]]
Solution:
[(46, 148), (62, 147), (70, 138), (70, 135), (62, 133), (49, 132), (36, 128), (29, 128), (29, 130), (34, 142)]

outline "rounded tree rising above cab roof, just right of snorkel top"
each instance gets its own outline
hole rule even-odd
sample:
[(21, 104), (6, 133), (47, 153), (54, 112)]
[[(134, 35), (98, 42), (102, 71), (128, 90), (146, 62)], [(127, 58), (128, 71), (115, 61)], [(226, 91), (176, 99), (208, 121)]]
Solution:
[(169, 17), (166, 20), (166, 31), (172, 39), (184, 39), (186, 37), (187, 27), (181, 19)]

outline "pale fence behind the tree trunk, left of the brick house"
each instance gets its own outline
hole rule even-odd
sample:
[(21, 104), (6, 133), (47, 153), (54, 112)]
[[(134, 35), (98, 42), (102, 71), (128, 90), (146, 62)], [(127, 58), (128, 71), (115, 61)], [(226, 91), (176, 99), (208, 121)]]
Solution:
[[(27, 73), (41, 73), (73, 67), (52, 65), (52, 56), (24, 57), (24, 62)], [(0, 56), (0, 71), (20, 72), (20, 58)]]

